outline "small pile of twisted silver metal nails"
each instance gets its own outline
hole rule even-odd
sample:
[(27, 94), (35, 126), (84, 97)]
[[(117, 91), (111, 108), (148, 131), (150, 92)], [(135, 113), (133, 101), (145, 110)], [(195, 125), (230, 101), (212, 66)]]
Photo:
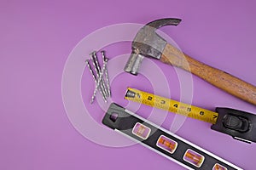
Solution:
[[(108, 79), (108, 58), (105, 56), (105, 51), (101, 51), (102, 54), (102, 68), (99, 64), (99, 59), (96, 55), (96, 51), (92, 52), (90, 54), (90, 59), (85, 60), (85, 64), (88, 66), (90, 70), (90, 74), (93, 77), (96, 87), (94, 89), (94, 92), (92, 94), (92, 97), (90, 99), (90, 104), (93, 103), (97, 91), (99, 91), (102, 94), (102, 99), (107, 103), (108, 97), (111, 97), (111, 91), (110, 91), (110, 85), (109, 85), (109, 79)], [(90, 61), (92, 62), (92, 65), (94, 67), (94, 71), (92, 69), (92, 66), (90, 65)]]

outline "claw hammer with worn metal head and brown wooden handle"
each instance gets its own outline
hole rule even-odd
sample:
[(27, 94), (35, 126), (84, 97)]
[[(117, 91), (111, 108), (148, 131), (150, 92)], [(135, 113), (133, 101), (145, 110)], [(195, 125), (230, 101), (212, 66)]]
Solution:
[(180, 22), (180, 19), (166, 18), (154, 20), (143, 26), (131, 44), (132, 53), (125, 65), (125, 71), (137, 75), (144, 57), (160, 59), (167, 65), (189, 71), (215, 87), (256, 105), (255, 86), (183, 54), (182, 51), (155, 33), (162, 26), (177, 26)]

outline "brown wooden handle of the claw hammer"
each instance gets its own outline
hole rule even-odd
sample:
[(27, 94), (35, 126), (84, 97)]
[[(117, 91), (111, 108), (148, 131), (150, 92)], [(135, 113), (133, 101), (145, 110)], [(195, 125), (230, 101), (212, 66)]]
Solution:
[(256, 87), (252, 84), (242, 81), (241, 79), (230, 75), (224, 71), (220, 71), (212, 66), (206, 65), (192, 59), (187, 54), (183, 54), (179, 49), (171, 44), (166, 45), (166, 48), (161, 55), (160, 61), (182, 68), (189, 71), (203, 80), (210, 82), (217, 88), (225, 92), (243, 99), (253, 105), (256, 105)]

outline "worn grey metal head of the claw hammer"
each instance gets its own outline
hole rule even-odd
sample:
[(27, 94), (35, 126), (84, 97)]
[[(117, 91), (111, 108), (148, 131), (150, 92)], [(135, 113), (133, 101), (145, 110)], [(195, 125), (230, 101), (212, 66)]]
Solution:
[(125, 71), (137, 75), (144, 57), (160, 59), (166, 48), (166, 40), (160, 37), (155, 31), (162, 26), (177, 26), (180, 19), (160, 19), (149, 22), (137, 32), (137, 36), (131, 43), (131, 56), (125, 65)]

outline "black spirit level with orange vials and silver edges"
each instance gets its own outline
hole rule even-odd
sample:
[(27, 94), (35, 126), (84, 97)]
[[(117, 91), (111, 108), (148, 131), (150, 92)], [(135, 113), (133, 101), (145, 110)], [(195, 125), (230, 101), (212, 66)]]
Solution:
[(241, 167), (114, 103), (109, 106), (102, 123), (187, 169), (241, 170)]

